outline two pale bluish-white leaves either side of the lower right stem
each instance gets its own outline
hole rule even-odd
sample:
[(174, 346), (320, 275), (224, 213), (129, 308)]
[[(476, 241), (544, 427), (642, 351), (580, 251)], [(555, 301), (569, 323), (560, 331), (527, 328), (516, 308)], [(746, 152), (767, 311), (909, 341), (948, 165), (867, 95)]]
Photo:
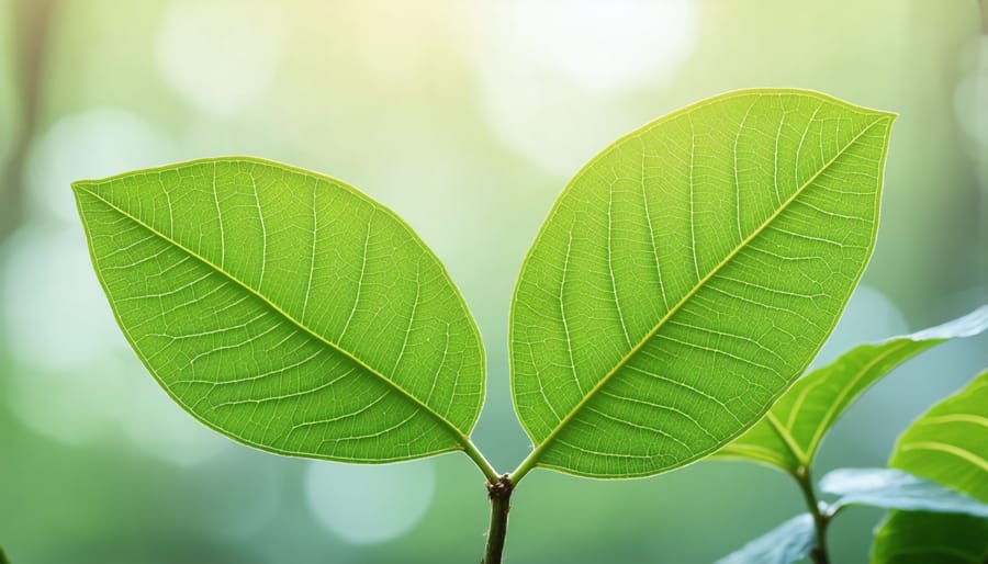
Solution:
[[(840, 496), (833, 504), (821, 504), (820, 510), (830, 518), (852, 505), (910, 511), (897, 514), (902, 516), (917, 515), (911, 511), (928, 511), (919, 515), (941, 519), (969, 519), (975, 522), (988, 518), (988, 504), (896, 469), (835, 470), (820, 481), (820, 490)], [(900, 519), (908, 523), (907, 517)], [(801, 514), (719, 560), (718, 564), (789, 564), (805, 559), (816, 541), (812, 516)], [(972, 562), (980, 563), (983, 560)]]

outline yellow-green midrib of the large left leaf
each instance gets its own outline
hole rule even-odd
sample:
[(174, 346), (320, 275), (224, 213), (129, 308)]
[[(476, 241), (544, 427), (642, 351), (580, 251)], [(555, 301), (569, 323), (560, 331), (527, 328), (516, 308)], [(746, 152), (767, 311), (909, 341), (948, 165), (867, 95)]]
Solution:
[(242, 280), (239, 280), (239, 279), (236, 278), (235, 275), (231, 274), (231, 273), (227, 272), (226, 270), (224, 270), (224, 269), (217, 267), (216, 264), (214, 264), (212, 261), (210, 261), (210, 260), (206, 259), (205, 257), (203, 257), (203, 256), (199, 255), (198, 252), (195, 252), (195, 251), (193, 251), (193, 250), (187, 248), (184, 245), (181, 245), (180, 242), (176, 241), (175, 239), (172, 239), (171, 237), (165, 235), (164, 233), (159, 232), (158, 229), (155, 229), (154, 227), (151, 227), (150, 225), (148, 225), (147, 223), (145, 223), (145, 222), (142, 221), (141, 218), (135, 217), (134, 215), (132, 215), (132, 214), (127, 213), (126, 211), (120, 208), (119, 206), (116, 206), (115, 204), (113, 204), (112, 202), (110, 202), (109, 200), (106, 200), (105, 198), (101, 196), (100, 194), (93, 192), (92, 190), (89, 190), (89, 189), (86, 187), (85, 183), (76, 182), (76, 183), (72, 184), (72, 188), (75, 188), (76, 190), (78, 190), (78, 191), (80, 191), (80, 192), (85, 192), (86, 194), (89, 194), (89, 195), (91, 195), (92, 198), (99, 200), (99, 201), (102, 202), (104, 205), (106, 205), (109, 208), (111, 208), (111, 210), (113, 210), (114, 212), (119, 213), (119, 214), (122, 215), (123, 217), (125, 217), (125, 218), (127, 218), (127, 219), (134, 222), (135, 224), (137, 224), (137, 225), (144, 227), (145, 229), (147, 229), (149, 233), (151, 233), (153, 235), (157, 236), (157, 237), (160, 238), (161, 240), (164, 240), (164, 241), (168, 242), (169, 245), (171, 245), (171, 246), (173, 246), (173, 247), (176, 247), (176, 248), (182, 250), (183, 252), (188, 253), (190, 257), (192, 257), (192, 258), (199, 260), (200, 262), (202, 262), (203, 264), (205, 264), (207, 268), (213, 269), (215, 272), (217, 272), (217, 273), (220, 273), (221, 275), (225, 277), (227, 280), (229, 280), (229, 281), (233, 282), (234, 284), (240, 286), (240, 287), (242, 287), (243, 290), (245, 290), (248, 294), (250, 294), (250, 295), (255, 296), (256, 298), (260, 300), (263, 304), (266, 304), (268, 307), (270, 307), (270, 308), (271, 308), (272, 311), (274, 311), (277, 314), (279, 314), (279, 315), (281, 315), (282, 317), (284, 317), (284, 319), (287, 319), (289, 323), (291, 323), (292, 325), (294, 325), (296, 328), (301, 329), (303, 332), (310, 335), (312, 338), (314, 338), (314, 339), (316, 339), (317, 341), (322, 342), (322, 343), (325, 345), (326, 347), (329, 347), (330, 349), (333, 349), (333, 350), (335, 350), (335, 351), (337, 351), (337, 352), (344, 354), (345, 357), (347, 357), (348, 359), (350, 359), (351, 361), (353, 361), (355, 363), (357, 363), (357, 365), (359, 365), (360, 368), (364, 369), (367, 372), (369, 372), (369, 373), (373, 374), (374, 376), (377, 376), (378, 379), (380, 379), (380, 380), (381, 380), (382, 382), (384, 382), (384, 384), (388, 385), (390, 388), (394, 390), (394, 391), (397, 392), (402, 397), (404, 397), (405, 399), (407, 399), (409, 403), (414, 404), (415, 407), (422, 409), (422, 410), (425, 411), (427, 415), (431, 416), (431, 417), (435, 418), (437, 421), (439, 421), (440, 426), (441, 426), (442, 428), (445, 428), (447, 431), (449, 431), (449, 433), (453, 437), (453, 439), (456, 439), (456, 441), (459, 443), (459, 448), (460, 448), (461, 450), (470, 450), (470, 448), (472, 447), (471, 443), (470, 443), (470, 439), (467, 438), (467, 436), (463, 435), (463, 433), (462, 433), (462, 432), (461, 432), (461, 431), (460, 431), (452, 422), (450, 422), (448, 419), (446, 419), (445, 417), (442, 417), (441, 415), (439, 415), (436, 410), (434, 410), (434, 409), (433, 409), (431, 407), (429, 407), (428, 405), (424, 404), (424, 403), (423, 403), (422, 401), (419, 401), (417, 397), (415, 397), (414, 395), (412, 395), (412, 393), (409, 393), (407, 390), (403, 388), (402, 386), (400, 386), (397, 383), (395, 383), (395, 382), (392, 381), (391, 379), (384, 376), (384, 374), (382, 374), (382, 373), (379, 372), (378, 370), (373, 369), (373, 368), (370, 366), (367, 362), (364, 362), (363, 360), (361, 360), (360, 358), (358, 358), (357, 356), (355, 356), (355, 354), (351, 353), (350, 351), (344, 349), (341, 346), (339, 346), (339, 345), (337, 345), (337, 343), (330, 341), (329, 339), (325, 338), (324, 336), (322, 336), (322, 335), (315, 332), (312, 328), (307, 327), (307, 326), (306, 326), (305, 324), (303, 324), (302, 322), (295, 319), (295, 318), (294, 318), (292, 315), (290, 315), (288, 312), (285, 312), (284, 309), (282, 309), (281, 307), (279, 307), (277, 304), (274, 304), (273, 302), (271, 302), (270, 300), (268, 300), (263, 294), (261, 294), (261, 293), (258, 292), (257, 290), (250, 287), (247, 283), (243, 282)]

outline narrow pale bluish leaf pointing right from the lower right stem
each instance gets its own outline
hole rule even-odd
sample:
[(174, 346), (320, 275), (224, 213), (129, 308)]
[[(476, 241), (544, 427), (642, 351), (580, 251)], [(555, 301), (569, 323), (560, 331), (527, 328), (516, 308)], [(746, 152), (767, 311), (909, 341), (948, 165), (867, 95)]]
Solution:
[(820, 481), (820, 490), (840, 496), (835, 511), (853, 504), (906, 511), (988, 517), (988, 505), (936, 482), (896, 469), (840, 469)]

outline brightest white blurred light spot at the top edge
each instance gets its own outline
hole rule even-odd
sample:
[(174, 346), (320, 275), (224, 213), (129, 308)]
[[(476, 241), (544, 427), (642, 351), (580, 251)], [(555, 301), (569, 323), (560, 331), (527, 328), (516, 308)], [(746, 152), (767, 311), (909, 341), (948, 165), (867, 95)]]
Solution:
[(624, 97), (670, 81), (696, 41), (693, 4), (512, 0), (478, 11), (474, 68), (487, 125), (569, 177), (656, 115)]

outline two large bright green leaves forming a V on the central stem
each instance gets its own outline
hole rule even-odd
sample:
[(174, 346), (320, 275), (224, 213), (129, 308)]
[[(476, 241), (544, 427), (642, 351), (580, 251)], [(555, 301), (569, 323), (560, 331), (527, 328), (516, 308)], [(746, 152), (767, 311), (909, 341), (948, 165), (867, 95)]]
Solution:
[[(595, 157), (512, 305), (515, 407), (536, 466), (649, 475), (756, 421), (832, 330), (874, 245), (892, 116), (796, 90), (717, 97)], [(392, 212), (252, 158), (74, 184), (131, 345), (204, 424), (283, 454), (464, 450), (475, 324)]]

